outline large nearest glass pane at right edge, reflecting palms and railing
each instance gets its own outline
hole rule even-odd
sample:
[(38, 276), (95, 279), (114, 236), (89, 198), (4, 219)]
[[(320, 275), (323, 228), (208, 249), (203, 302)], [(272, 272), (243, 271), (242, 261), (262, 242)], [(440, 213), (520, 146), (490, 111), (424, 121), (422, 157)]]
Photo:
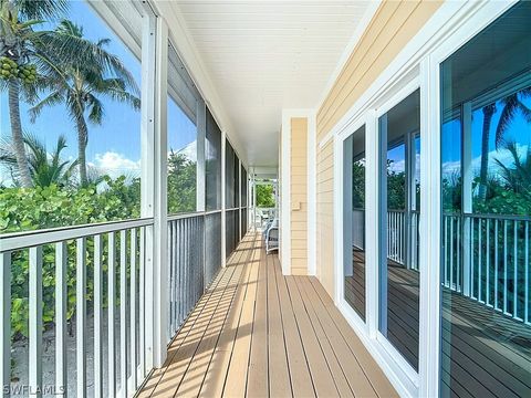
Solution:
[(531, 3), (440, 65), (442, 397), (531, 394)]

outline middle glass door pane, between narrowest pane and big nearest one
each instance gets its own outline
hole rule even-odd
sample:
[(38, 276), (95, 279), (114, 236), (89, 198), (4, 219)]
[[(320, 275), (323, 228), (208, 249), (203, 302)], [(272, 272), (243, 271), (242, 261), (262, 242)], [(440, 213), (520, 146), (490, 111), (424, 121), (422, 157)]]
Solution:
[(378, 119), (379, 332), (418, 369), (420, 92)]

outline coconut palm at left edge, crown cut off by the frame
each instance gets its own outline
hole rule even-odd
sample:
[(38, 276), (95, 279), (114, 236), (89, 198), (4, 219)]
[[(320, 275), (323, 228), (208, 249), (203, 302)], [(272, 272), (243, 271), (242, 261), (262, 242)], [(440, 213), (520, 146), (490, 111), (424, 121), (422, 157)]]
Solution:
[[(22, 134), (20, 100), (34, 97), (37, 74), (25, 78), (24, 70), (40, 66), (53, 67), (45, 56), (41, 38), (45, 32), (35, 32), (33, 25), (42, 19), (53, 18), (67, 9), (67, 0), (0, 0), (0, 57), (3, 65), (10, 65), (10, 73), (2, 75), (0, 90), (8, 91), (11, 138), (17, 157), (22, 187), (31, 187), (30, 167)], [(33, 70), (34, 71), (34, 70)], [(7, 71), (8, 72), (8, 71)]]

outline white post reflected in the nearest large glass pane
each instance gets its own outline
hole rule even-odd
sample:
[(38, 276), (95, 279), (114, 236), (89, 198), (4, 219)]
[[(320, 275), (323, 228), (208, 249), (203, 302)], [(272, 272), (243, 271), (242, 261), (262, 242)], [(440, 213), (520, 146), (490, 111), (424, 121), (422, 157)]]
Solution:
[[(472, 212), (472, 104), (462, 104), (462, 210)], [(462, 294), (470, 296), (470, 219), (462, 220)]]

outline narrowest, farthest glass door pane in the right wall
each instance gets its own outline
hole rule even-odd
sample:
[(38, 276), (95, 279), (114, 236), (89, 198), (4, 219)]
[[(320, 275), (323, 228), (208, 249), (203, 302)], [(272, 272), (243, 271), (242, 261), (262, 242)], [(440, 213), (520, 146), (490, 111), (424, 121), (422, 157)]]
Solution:
[(365, 126), (343, 143), (344, 296), (365, 321)]

